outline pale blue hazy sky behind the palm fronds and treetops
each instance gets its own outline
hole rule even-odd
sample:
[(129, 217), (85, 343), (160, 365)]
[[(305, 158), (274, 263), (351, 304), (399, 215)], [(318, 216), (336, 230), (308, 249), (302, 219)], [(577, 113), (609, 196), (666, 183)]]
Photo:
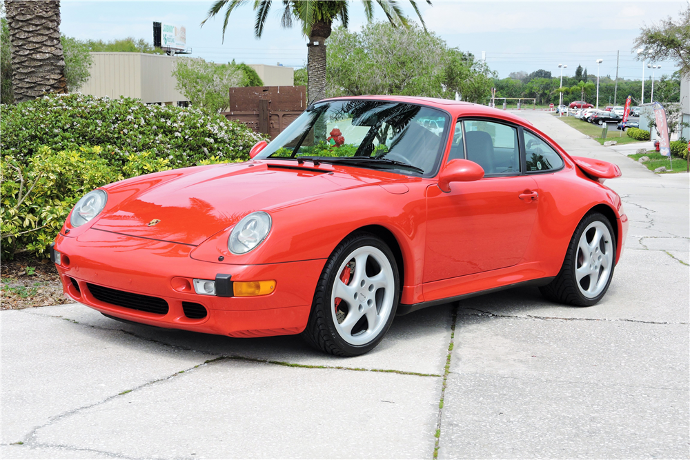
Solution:
[[(304, 66), (306, 38), (299, 28), (282, 29), (274, 1), (262, 39), (254, 37), (254, 12), (248, 2), (233, 12), (225, 42), (221, 37), (222, 20), (210, 19), (199, 24), (213, 2), (210, 1), (70, 1), (61, 2), (61, 32), (78, 39), (112, 40), (124, 37), (144, 38), (152, 42), (152, 22), (185, 26), (187, 46), (193, 56), (215, 62), (235, 59), (245, 63), (282, 63)], [(414, 12), (404, 0), (408, 17)], [(451, 47), (472, 52), (477, 58), (486, 52), (486, 62), (507, 77), (510, 72), (537, 69), (559, 75), (558, 64), (568, 66), (564, 75), (573, 75), (578, 64), (596, 74), (596, 59), (604, 59), (600, 74), (615, 77), (616, 52), (620, 50), (618, 76), (640, 79), (642, 63), (631, 53), (632, 42), (640, 26), (677, 17), (687, 8), (687, 1), (439, 1), (426, 6), (418, 0), (428, 30), (435, 32)], [(423, 3), (423, 4), (422, 4)], [(351, 2), (350, 30), (358, 30), (366, 21), (362, 5)], [(376, 18), (384, 19), (380, 8)], [(661, 62), (660, 74), (678, 68)], [(645, 69), (645, 77), (650, 76)]]

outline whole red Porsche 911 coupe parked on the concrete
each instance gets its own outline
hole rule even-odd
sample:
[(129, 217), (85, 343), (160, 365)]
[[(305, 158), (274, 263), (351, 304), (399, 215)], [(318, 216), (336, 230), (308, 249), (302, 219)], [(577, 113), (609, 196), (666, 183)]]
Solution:
[(518, 285), (591, 306), (627, 232), (611, 163), (471, 103), (326, 99), (250, 161), (86, 194), (51, 248), (65, 292), (113, 319), (342, 356), (396, 314)]

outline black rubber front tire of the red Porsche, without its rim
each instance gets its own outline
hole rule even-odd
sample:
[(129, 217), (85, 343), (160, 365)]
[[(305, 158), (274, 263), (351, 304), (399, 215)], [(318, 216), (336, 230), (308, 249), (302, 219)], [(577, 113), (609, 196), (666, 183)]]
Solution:
[[(391, 264), (393, 279), (395, 280), (395, 287), (393, 288), (393, 306), (382, 330), (373, 337), (371, 341), (362, 345), (353, 345), (346, 342), (335, 328), (333, 314), (331, 313), (331, 294), (333, 292), (335, 279), (339, 276), (339, 268), (346, 262), (346, 258), (348, 258), (353, 251), (364, 246), (373, 246), (383, 252), (388, 262)], [(388, 248), (388, 245), (386, 245), (382, 239), (374, 234), (354, 232), (339, 243), (335, 250), (333, 250), (331, 257), (328, 257), (326, 261), (326, 265), (324, 266), (324, 270), (316, 286), (311, 312), (306, 328), (304, 332), (302, 332), (302, 338), (313, 348), (329, 354), (335, 354), (342, 357), (364, 354), (377, 346), (386, 332), (388, 332), (388, 328), (390, 328), (391, 323), (393, 323), (399, 299), (400, 274), (398, 273), (395, 256), (393, 252), (391, 252), (391, 249)]]

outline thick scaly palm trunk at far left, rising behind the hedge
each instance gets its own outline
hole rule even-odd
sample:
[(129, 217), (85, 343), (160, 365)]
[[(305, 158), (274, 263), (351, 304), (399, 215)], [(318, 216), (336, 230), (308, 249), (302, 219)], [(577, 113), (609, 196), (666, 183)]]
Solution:
[(12, 45), (14, 100), (67, 92), (59, 0), (5, 0), (5, 6)]

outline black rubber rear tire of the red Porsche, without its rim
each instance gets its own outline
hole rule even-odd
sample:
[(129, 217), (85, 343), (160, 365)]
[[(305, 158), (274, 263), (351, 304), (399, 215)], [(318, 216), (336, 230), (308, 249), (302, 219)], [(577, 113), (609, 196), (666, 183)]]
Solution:
[[(594, 223), (595, 221), (603, 223), (604, 226), (608, 228), (609, 234), (611, 235), (613, 257), (611, 269), (609, 270), (608, 274), (609, 279), (606, 281), (604, 289), (595, 297), (586, 297), (584, 294), (582, 294), (578, 286), (578, 279), (575, 277), (575, 269), (577, 267), (578, 245), (580, 243), (582, 233), (591, 223)], [(578, 228), (575, 229), (575, 233), (573, 234), (573, 238), (568, 246), (568, 252), (566, 252), (560, 272), (558, 272), (558, 275), (556, 275), (555, 279), (553, 279), (551, 283), (540, 287), (539, 290), (542, 292), (542, 295), (546, 297), (546, 299), (551, 301), (566, 303), (578, 307), (593, 306), (595, 303), (600, 301), (602, 297), (604, 297), (609, 290), (609, 286), (611, 285), (611, 279), (613, 279), (613, 271), (615, 268), (615, 248), (615, 233), (613, 232), (609, 219), (607, 219), (607, 217), (600, 212), (589, 212), (589, 214), (586, 214), (582, 218), (582, 221), (580, 221), (578, 224)]]

